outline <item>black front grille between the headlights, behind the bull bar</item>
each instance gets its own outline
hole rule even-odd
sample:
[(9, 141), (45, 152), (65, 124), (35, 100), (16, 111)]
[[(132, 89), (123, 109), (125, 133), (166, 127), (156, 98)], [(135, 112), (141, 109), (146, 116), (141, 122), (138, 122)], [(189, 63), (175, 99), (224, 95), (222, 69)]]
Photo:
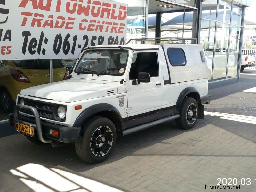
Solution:
[[(25, 105), (36, 108), (40, 117), (55, 120), (53, 116), (53, 107), (54, 107), (53, 104), (25, 99), (25, 98), (23, 98), (23, 100)], [(32, 112), (30, 111), (28, 111), (28, 114), (33, 115)]]

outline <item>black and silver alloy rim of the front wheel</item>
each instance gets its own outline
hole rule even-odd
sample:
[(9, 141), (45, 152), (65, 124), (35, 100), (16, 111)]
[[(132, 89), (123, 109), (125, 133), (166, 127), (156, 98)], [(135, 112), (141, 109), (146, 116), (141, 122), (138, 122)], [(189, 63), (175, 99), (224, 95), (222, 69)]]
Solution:
[(92, 154), (100, 157), (108, 153), (113, 143), (113, 133), (108, 126), (98, 127), (92, 134), (91, 151)]

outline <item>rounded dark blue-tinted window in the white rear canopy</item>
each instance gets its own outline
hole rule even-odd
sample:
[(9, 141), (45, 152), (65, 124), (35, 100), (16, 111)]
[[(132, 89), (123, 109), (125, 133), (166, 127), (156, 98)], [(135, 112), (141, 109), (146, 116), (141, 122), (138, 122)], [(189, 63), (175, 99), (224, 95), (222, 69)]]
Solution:
[(181, 48), (168, 48), (167, 54), (172, 66), (186, 65), (187, 60), (185, 52)]

